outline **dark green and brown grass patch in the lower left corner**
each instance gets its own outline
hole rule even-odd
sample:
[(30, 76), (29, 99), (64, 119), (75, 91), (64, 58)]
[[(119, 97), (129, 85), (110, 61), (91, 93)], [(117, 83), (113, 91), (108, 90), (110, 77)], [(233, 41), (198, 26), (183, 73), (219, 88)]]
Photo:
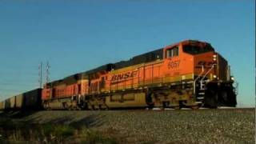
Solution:
[(90, 130), (60, 124), (33, 124), (0, 120), (0, 143), (117, 143), (114, 138)]

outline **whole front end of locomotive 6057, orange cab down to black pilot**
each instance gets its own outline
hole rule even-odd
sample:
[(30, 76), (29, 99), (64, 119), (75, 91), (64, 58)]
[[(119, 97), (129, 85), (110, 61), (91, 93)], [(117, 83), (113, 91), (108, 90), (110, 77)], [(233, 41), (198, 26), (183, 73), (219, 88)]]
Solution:
[(236, 106), (230, 66), (209, 43), (188, 40), (166, 46), (164, 58), (164, 76), (175, 78), (180, 75), (181, 82), (191, 81), (194, 99), (199, 106)]

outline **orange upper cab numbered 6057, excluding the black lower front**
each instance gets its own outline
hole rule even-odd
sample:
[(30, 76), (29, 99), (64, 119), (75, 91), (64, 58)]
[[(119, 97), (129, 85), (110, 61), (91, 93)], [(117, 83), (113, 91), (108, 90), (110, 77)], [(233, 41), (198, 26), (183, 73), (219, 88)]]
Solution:
[[(210, 70), (206, 77), (216, 77), (213, 66), (214, 48), (208, 43), (184, 41), (164, 49), (166, 70), (164, 76), (182, 75), (183, 80), (197, 78)], [(215, 75), (215, 76), (214, 76)], [(186, 78), (188, 77), (188, 78)]]

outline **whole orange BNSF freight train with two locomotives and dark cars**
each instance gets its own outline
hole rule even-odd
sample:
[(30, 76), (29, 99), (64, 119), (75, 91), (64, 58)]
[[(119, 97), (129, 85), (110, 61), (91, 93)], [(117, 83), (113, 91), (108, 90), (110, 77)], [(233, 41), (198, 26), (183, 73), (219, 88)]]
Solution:
[[(33, 101), (34, 108), (46, 110), (198, 109), (237, 105), (228, 62), (210, 43), (195, 40), (49, 82), (36, 91), (38, 95), (31, 93), (31, 97), (38, 98)], [(14, 98), (16, 101), (10, 98), (9, 107), (22, 107), (18, 97)], [(23, 98), (23, 108), (28, 100), (26, 96)], [(0, 108), (5, 109), (6, 101), (2, 103)]]

